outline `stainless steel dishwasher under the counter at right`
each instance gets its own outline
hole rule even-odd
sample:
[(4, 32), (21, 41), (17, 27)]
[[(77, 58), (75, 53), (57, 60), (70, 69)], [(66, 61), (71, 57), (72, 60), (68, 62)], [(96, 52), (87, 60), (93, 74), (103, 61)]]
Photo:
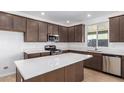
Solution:
[(117, 76), (121, 76), (121, 57), (104, 55), (103, 71)]

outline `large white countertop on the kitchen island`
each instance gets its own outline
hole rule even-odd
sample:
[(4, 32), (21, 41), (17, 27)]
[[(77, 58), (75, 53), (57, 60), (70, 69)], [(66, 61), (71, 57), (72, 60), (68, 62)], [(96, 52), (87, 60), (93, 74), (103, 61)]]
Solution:
[(60, 55), (19, 60), (15, 61), (15, 64), (24, 80), (27, 80), (91, 57), (91, 55), (64, 53)]

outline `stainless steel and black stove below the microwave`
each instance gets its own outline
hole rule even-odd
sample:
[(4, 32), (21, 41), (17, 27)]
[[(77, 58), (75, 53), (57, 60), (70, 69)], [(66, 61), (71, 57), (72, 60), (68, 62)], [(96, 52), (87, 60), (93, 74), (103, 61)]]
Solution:
[(55, 45), (46, 45), (45, 50), (50, 51), (50, 55), (57, 55), (62, 53), (62, 50), (57, 49)]

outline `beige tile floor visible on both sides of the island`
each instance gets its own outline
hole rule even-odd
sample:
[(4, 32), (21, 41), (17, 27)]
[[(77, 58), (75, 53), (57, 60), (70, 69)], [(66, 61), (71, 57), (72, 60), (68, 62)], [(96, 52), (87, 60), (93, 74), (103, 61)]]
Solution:
[[(0, 82), (15, 82), (15, 81), (16, 81), (15, 74), (0, 78)], [(124, 82), (124, 79), (85, 68), (84, 81), (85, 82)]]

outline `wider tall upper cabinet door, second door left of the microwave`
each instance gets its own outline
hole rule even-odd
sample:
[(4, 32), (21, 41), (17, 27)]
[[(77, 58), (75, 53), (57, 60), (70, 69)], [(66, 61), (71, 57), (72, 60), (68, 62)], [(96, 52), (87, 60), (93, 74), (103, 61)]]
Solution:
[(27, 19), (27, 31), (25, 33), (25, 41), (38, 41), (38, 22), (32, 19)]

